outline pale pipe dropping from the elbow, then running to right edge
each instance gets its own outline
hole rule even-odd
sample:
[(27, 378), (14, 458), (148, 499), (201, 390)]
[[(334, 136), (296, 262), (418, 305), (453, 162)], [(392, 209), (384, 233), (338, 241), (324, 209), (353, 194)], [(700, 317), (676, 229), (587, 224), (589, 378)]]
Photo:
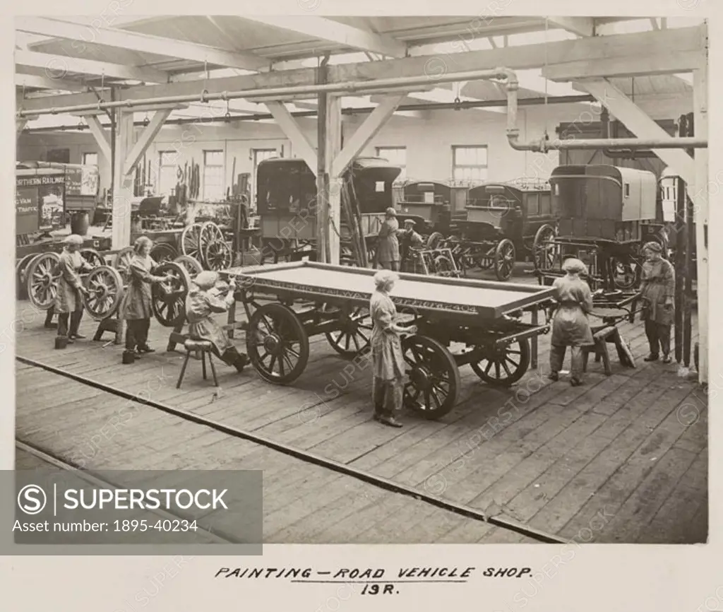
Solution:
[(510, 147), (518, 151), (534, 151), (536, 153), (547, 153), (549, 150), (568, 149), (604, 149), (604, 148), (627, 148), (637, 149), (701, 149), (708, 147), (708, 139), (695, 137), (670, 137), (670, 138), (591, 138), (577, 139), (570, 138), (560, 140), (549, 140), (545, 134), (539, 140), (531, 140), (529, 143), (519, 142), (520, 129), (517, 127), (517, 90), (518, 83), (508, 80), (507, 83), (507, 139)]

